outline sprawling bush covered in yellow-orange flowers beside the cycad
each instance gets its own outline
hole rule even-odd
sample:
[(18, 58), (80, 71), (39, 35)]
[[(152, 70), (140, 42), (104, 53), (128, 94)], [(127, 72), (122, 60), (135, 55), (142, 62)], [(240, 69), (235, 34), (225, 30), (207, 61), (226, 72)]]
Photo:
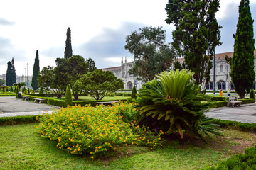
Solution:
[(124, 122), (121, 113), (132, 104), (117, 103), (111, 107), (72, 106), (43, 114), (37, 126), (41, 137), (58, 142), (60, 149), (71, 154), (90, 154), (91, 158), (106, 154), (118, 145), (139, 145), (156, 149), (161, 146), (161, 134), (134, 123)]

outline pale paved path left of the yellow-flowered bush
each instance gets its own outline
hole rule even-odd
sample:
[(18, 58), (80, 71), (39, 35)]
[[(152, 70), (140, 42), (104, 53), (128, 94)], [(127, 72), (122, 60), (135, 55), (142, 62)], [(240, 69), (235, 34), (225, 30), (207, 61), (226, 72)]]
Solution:
[(51, 113), (57, 106), (49, 106), (43, 103), (23, 101), (14, 96), (0, 97), (0, 117), (12, 117), (17, 115), (40, 115), (48, 111)]

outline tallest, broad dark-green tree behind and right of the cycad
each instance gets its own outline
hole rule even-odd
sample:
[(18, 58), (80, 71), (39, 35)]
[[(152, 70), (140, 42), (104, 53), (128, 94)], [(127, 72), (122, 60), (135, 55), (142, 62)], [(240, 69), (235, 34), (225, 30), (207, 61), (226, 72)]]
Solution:
[(195, 74), (196, 84), (204, 87), (210, 80), (211, 62), (216, 46), (220, 45), (220, 28), (215, 13), (219, 0), (169, 0), (166, 23), (174, 23), (172, 36), (178, 55), (185, 57), (188, 69)]

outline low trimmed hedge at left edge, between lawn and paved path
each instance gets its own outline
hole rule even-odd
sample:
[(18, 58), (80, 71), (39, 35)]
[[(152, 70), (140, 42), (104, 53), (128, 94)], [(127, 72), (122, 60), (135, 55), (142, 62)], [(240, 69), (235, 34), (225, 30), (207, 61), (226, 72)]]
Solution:
[(36, 117), (38, 115), (26, 115), (26, 116), (14, 116), (14, 117), (2, 117), (0, 118), (0, 126), (3, 125), (18, 125), (22, 123), (36, 123)]

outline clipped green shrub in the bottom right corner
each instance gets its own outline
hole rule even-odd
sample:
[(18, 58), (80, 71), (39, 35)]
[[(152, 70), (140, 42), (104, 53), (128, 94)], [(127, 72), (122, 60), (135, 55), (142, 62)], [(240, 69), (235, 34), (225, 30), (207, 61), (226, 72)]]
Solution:
[(256, 169), (256, 145), (245, 149), (245, 154), (233, 155), (233, 157), (219, 162), (217, 166), (206, 169)]

